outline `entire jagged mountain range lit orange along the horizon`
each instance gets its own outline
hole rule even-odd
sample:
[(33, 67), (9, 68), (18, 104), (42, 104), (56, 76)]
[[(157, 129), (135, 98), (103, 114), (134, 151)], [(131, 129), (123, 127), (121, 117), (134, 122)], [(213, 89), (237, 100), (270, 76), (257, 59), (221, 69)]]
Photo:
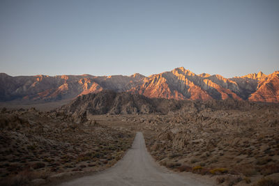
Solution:
[(145, 77), (131, 76), (47, 75), (12, 77), (0, 73), (0, 101), (50, 102), (76, 98), (78, 95), (111, 90), (148, 98), (174, 100), (249, 100), (279, 102), (279, 71), (225, 78), (185, 68)]

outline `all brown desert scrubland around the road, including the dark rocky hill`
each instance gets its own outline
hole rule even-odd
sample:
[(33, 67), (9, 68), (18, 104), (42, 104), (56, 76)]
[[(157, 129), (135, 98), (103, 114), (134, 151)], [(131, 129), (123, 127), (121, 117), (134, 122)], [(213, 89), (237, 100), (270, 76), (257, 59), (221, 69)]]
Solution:
[(52, 111), (1, 110), (2, 185), (40, 185), (114, 165), (144, 134), (161, 166), (216, 185), (278, 185), (279, 106), (103, 91)]

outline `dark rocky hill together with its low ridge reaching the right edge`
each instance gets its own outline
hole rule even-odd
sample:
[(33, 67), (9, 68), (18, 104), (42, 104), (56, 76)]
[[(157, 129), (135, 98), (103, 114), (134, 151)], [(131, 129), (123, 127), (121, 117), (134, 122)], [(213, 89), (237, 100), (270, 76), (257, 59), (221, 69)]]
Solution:
[(81, 95), (69, 104), (55, 110), (63, 118), (70, 117), (70, 121), (80, 123), (90, 114), (171, 114), (198, 113), (204, 109), (246, 111), (251, 109), (278, 109), (278, 104), (248, 102), (243, 100), (167, 100), (164, 98), (147, 98), (140, 94), (115, 93), (101, 91)]

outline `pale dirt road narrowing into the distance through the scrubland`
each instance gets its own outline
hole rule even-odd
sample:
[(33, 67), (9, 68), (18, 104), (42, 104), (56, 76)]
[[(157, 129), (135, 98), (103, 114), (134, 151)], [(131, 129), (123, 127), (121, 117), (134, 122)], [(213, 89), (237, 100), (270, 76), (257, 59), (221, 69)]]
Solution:
[(147, 152), (142, 132), (137, 132), (132, 148), (115, 166), (61, 185), (213, 185), (197, 178), (159, 166)]

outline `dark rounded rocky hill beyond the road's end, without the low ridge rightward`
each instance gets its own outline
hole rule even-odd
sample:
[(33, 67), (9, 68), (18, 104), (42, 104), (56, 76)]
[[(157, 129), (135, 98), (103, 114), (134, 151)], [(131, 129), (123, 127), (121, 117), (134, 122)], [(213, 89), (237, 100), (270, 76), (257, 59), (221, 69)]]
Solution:
[[(188, 102), (190, 104), (190, 102)], [(66, 116), (86, 116), (86, 114), (151, 114), (180, 109), (183, 104), (177, 100), (146, 98), (144, 95), (101, 91), (82, 95), (56, 109)]]

